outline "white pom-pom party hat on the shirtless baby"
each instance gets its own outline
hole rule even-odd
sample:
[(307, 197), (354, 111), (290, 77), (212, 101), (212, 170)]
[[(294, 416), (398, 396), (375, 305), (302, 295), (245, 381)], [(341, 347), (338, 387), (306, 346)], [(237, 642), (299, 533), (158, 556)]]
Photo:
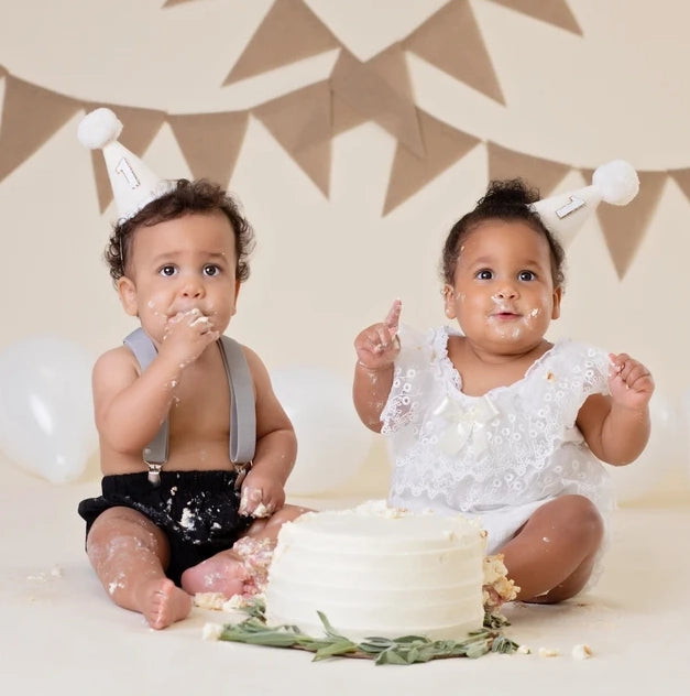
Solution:
[(87, 113), (79, 123), (77, 138), (90, 150), (102, 150), (119, 218), (134, 217), (152, 200), (175, 187), (174, 181), (156, 176), (133, 152), (118, 142), (122, 123), (106, 108)]

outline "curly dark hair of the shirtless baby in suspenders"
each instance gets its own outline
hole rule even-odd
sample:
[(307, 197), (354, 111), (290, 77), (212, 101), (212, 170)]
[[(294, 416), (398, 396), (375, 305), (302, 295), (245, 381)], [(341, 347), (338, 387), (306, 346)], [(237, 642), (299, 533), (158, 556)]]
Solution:
[(103, 254), (113, 282), (125, 274), (132, 239), (138, 228), (151, 227), (193, 213), (222, 213), (230, 220), (234, 231), (236, 278), (241, 282), (245, 281), (249, 278), (249, 255), (254, 249), (254, 231), (241, 214), (239, 204), (218, 184), (204, 178), (193, 182), (180, 178), (175, 184), (175, 188), (152, 200), (133, 217), (113, 225)]

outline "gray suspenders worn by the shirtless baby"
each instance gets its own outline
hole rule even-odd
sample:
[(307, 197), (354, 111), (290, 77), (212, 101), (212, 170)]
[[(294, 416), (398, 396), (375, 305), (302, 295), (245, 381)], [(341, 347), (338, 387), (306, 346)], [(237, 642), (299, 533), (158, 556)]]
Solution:
[[(124, 345), (134, 354), (142, 372), (156, 356), (153, 341), (141, 327), (124, 338)], [(251, 466), (256, 446), (254, 388), (240, 344), (228, 336), (221, 336), (218, 345), (230, 384), (230, 461), (240, 470), (236, 483), (239, 487)], [(167, 455), (166, 420), (142, 452), (143, 459), (149, 465), (149, 480), (154, 486), (161, 481), (161, 468), (167, 461)]]

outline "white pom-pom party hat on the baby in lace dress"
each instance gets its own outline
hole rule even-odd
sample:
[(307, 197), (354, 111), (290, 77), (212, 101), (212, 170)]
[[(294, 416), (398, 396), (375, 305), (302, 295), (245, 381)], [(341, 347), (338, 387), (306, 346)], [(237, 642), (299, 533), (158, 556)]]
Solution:
[(639, 180), (633, 166), (623, 160), (614, 160), (594, 170), (590, 186), (543, 198), (530, 207), (539, 214), (544, 225), (562, 241), (572, 237), (602, 200), (624, 206), (638, 191)]

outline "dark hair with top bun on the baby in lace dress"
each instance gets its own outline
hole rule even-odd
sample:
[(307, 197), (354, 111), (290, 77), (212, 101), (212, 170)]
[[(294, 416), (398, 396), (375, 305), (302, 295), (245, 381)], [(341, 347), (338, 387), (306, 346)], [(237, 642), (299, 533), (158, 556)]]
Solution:
[(566, 280), (563, 273), (566, 252), (560, 242), (544, 225), (538, 213), (530, 207), (530, 204), (537, 200), (539, 200), (538, 189), (529, 187), (522, 178), (492, 181), (489, 184), (486, 194), (477, 202), (474, 209), (463, 215), (450, 229), (441, 257), (441, 281), (449, 285), (453, 284), (456, 265), (463, 240), (481, 222), (494, 218), (500, 220), (521, 220), (539, 235), (544, 235), (549, 244), (551, 255), (554, 285), (561, 287)]

